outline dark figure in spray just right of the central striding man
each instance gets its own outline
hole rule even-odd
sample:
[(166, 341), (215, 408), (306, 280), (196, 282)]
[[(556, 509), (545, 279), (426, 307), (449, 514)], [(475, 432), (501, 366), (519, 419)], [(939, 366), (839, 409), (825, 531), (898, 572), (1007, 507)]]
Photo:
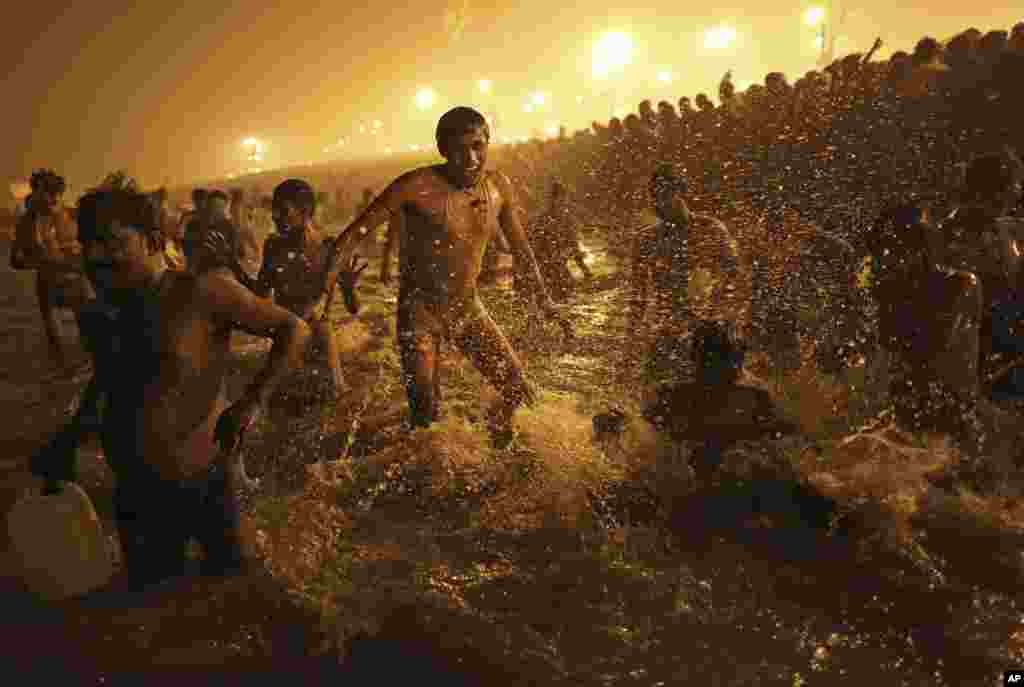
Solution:
[[(532, 223), (529, 244), (541, 268), (544, 283), (554, 300), (566, 298), (575, 286), (575, 280), (565, 264), (571, 258), (580, 266), (585, 278), (594, 274), (587, 266), (586, 255), (580, 247), (580, 222), (569, 208), (565, 186), (555, 181), (551, 187), (551, 206)], [(514, 288), (520, 294), (531, 294), (528, 275), (516, 270)]]

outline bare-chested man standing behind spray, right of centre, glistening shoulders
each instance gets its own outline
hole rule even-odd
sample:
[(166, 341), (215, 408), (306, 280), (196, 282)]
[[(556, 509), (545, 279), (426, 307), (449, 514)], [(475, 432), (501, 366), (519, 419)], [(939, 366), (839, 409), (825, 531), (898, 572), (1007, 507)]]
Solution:
[(659, 332), (649, 372), (659, 378), (666, 371), (674, 374), (677, 366), (671, 360), (685, 356), (677, 348), (687, 321), (744, 325), (750, 290), (736, 240), (718, 219), (690, 211), (686, 179), (673, 165), (655, 170), (648, 190), (658, 221), (641, 228), (634, 241), (630, 329), (642, 331), (653, 300)]

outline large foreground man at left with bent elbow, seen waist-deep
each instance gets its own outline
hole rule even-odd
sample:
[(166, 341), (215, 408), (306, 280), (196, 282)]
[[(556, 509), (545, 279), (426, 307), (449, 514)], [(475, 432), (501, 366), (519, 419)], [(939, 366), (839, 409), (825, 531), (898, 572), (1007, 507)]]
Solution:
[[(244, 567), (239, 538), (239, 444), (278, 384), (300, 362), (309, 329), (257, 298), (226, 268), (167, 270), (157, 217), (128, 189), (79, 202), (85, 269), (102, 300), (105, 335), (95, 380), (106, 404), (99, 438), (117, 478), (115, 515), (129, 581), (180, 574), (190, 538), (205, 573)], [(266, 366), (227, 406), (234, 330), (273, 339)], [(225, 410), (226, 409), (226, 410)], [(90, 427), (74, 418), (33, 459), (47, 480), (74, 477)], [(219, 444), (219, 450), (218, 450)]]

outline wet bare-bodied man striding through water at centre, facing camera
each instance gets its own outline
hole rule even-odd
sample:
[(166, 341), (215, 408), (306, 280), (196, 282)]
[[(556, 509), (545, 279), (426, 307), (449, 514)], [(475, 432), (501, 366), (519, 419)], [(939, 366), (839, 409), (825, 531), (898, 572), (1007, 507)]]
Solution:
[[(486, 171), (490, 132), (470, 108), (456, 108), (437, 123), (442, 165), (421, 167), (391, 182), (339, 237), (335, 269), (346, 271), (373, 229), (400, 217), (397, 343), (413, 427), (438, 418), (442, 340), (459, 347), (501, 393), (489, 413), (499, 445), (511, 440), (512, 417), (536, 396), (522, 364), (477, 293), (483, 252), (501, 227), (516, 260), (528, 267), (545, 313), (568, 332), (548, 295), (526, 241), (512, 185)], [(329, 284), (331, 282), (329, 281)]]

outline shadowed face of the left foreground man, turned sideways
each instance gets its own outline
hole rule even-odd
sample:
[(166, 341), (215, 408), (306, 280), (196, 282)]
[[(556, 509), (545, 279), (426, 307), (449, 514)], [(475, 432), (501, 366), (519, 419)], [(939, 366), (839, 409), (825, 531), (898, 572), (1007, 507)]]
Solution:
[(143, 232), (115, 219), (94, 232), (80, 230), (79, 241), (85, 272), (101, 291), (117, 295), (144, 284), (153, 250)]

